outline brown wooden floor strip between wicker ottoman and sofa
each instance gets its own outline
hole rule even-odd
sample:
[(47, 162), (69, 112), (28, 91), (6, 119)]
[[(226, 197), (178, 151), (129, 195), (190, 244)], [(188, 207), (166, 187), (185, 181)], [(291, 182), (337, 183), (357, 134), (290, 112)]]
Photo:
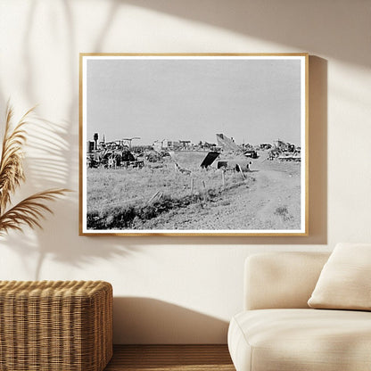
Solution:
[(227, 345), (114, 345), (104, 371), (235, 371)]

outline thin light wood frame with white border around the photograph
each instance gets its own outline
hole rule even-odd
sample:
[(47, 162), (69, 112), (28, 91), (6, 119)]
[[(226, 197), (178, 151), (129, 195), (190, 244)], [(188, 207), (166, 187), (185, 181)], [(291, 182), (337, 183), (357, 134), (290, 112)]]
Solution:
[[(242, 59), (256, 60), (298, 60), (300, 61), (300, 110), (301, 110), (301, 204), (300, 228), (277, 229), (90, 229), (87, 228), (87, 60), (103, 59), (195, 59), (197, 61)], [(306, 236), (309, 235), (309, 54), (80, 54), (79, 55), (79, 235), (167, 235), (167, 236)]]

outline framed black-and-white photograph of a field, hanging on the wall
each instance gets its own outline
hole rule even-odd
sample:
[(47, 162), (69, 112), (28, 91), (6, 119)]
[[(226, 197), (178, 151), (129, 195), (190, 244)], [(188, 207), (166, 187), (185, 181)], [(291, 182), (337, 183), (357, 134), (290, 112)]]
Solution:
[(308, 235), (308, 54), (80, 54), (80, 235)]

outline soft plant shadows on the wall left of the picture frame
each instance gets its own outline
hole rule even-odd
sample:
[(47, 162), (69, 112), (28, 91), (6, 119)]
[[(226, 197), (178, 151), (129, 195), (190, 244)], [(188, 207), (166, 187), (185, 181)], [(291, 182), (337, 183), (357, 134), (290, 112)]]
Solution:
[[(38, 13), (43, 10), (43, 4), (37, 1), (29, 2), (28, 15), (26, 19), (26, 31), (22, 37), (22, 57), (24, 81), (24, 94), (29, 106), (39, 103), (37, 95), (37, 68), (43, 65), (43, 54), (35, 54), (32, 37), (37, 32)], [(70, 91), (69, 106), (66, 109), (67, 119), (60, 122), (52, 122), (36, 118), (32, 127), (28, 130), (28, 148), (26, 148), (26, 176), (27, 183), (22, 186), (19, 194), (26, 197), (29, 194), (53, 187), (68, 187), (78, 185), (78, 54), (76, 54), (76, 28), (74, 27), (73, 12), (70, 1), (62, 0), (56, 2), (52, 7), (59, 15), (59, 21), (68, 25), (68, 48), (62, 55), (66, 69), (62, 75), (73, 87)], [(105, 22), (108, 29), (110, 20)], [(104, 32), (102, 33), (102, 37)], [(55, 37), (55, 45), (58, 44), (58, 35), (48, 34)], [(97, 45), (102, 43), (97, 40)], [(44, 78), (44, 75), (41, 77)], [(61, 79), (56, 78), (56, 81)], [(1, 89), (0, 89), (1, 90)], [(3, 92), (0, 91), (2, 107), (5, 107)], [(43, 103), (37, 111), (42, 111)], [(29, 151), (28, 151), (29, 150)], [(29, 153), (28, 153), (29, 152)], [(66, 262), (68, 266), (81, 267), (95, 258), (104, 260), (112, 256), (128, 256), (130, 248), (114, 242), (110, 238), (90, 238), (88, 243), (76, 243), (78, 236), (78, 190), (68, 194), (56, 202), (48, 205), (54, 210), (54, 215), (45, 214), (42, 221), (43, 230), (30, 231), (24, 228), (25, 233), (11, 233), (4, 238), (4, 243), (13, 251), (17, 251), (26, 276), (34, 276), (35, 279), (47, 279), (43, 275), (42, 268), (46, 258), (59, 262)], [(60, 220), (59, 225), (57, 221)], [(72, 226), (72, 227), (71, 227)], [(81, 237), (84, 238), (84, 237)], [(1, 241), (0, 243), (3, 243)], [(71, 243), (73, 241), (73, 243)], [(103, 248), (104, 246), (104, 248)], [(136, 253), (139, 249), (136, 248)], [(30, 259), (37, 256), (36, 259)], [(35, 265), (35, 261), (36, 265)], [(53, 277), (58, 279), (58, 277)], [(61, 276), (61, 278), (63, 278)], [(74, 277), (71, 276), (71, 279)], [(98, 277), (99, 278), (99, 277)]]

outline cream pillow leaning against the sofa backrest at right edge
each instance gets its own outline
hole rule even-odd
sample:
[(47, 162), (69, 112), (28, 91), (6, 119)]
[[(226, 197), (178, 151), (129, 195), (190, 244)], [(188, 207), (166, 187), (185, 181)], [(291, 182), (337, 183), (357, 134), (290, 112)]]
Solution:
[(308, 305), (316, 309), (371, 310), (371, 244), (338, 243)]

